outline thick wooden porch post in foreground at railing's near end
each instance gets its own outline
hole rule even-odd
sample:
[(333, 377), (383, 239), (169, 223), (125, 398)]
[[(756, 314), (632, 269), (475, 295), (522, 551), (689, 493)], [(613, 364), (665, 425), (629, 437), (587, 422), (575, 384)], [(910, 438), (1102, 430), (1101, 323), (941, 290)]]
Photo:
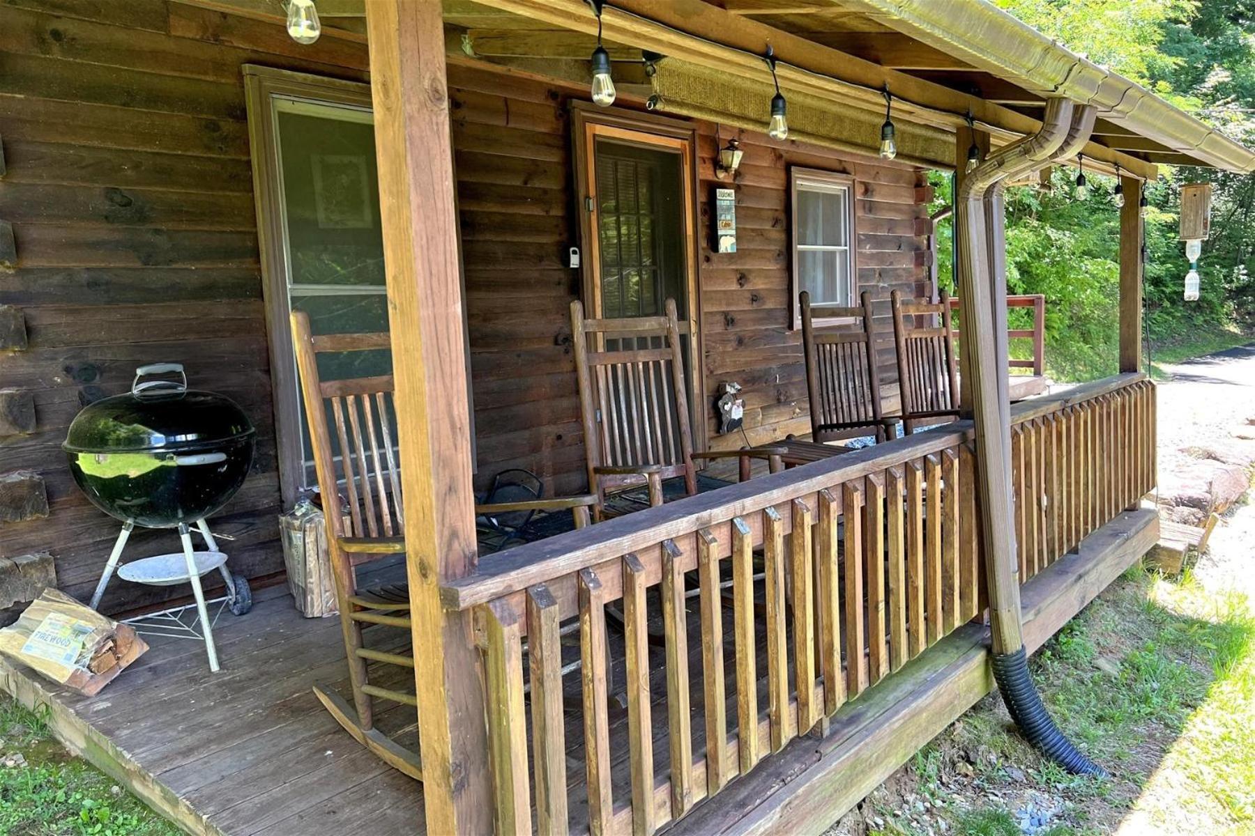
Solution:
[(476, 568), (444, 26), (439, 0), (366, 10), (427, 832), (487, 833), (479, 656), (439, 594)]

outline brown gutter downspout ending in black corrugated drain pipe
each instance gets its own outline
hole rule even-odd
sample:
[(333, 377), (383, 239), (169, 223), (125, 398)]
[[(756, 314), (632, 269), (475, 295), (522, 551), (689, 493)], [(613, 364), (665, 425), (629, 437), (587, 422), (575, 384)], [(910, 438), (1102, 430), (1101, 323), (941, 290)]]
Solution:
[[(976, 435), (976, 475), (989, 583), (994, 679), (1020, 732), (1047, 757), (1073, 775), (1106, 776), (1054, 724), (1028, 671), (1019, 600), (1018, 559), (1010, 484), (1010, 406), (1007, 350), (998, 335), (1005, 323), (1005, 239), (1001, 182), (1020, 177), (1082, 149), (1096, 112), (1063, 98), (1047, 100), (1042, 129), (990, 154), (963, 178), (955, 194), (959, 297), (974, 321), (964, 328), (968, 356), (964, 381), (971, 381)], [(989, 317), (976, 322), (976, 316)]]

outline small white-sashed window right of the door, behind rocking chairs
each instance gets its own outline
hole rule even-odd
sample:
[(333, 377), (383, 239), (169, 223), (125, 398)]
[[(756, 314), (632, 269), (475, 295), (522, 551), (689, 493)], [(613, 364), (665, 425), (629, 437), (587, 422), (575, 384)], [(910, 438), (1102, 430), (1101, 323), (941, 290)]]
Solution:
[(798, 293), (812, 305), (852, 306), (855, 293), (853, 178), (804, 168), (789, 170), (793, 196), (793, 327)]

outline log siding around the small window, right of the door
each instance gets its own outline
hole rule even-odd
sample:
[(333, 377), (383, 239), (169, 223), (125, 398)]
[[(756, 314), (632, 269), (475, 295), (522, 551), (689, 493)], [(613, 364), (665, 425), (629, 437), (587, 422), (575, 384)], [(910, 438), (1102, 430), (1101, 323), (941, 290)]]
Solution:
[[(740, 139), (744, 152), (733, 187), (737, 189), (737, 252), (712, 249), (714, 189), (727, 180), (714, 177), (720, 144)], [(894, 360), (889, 295), (930, 296), (927, 217), (924, 172), (906, 165), (853, 159), (822, 148), (777, 143), (764, 134), (702, 125), (699, 137), (702, 207), (702, 306), (705, 328), (707, 391), (723, 381), (744, 389), (745, 434), (754, 444), (811, 431), (802, 332), (792, 330), (792, 236), (789, 168), (813, 168), (856, 178), (857, 291), (871, 291), (873, 328), (886, 412), (897, 410), (897, 366)], [(745, 442), (740, 432), (717, 437), (717, 419), (707, 411), (715, 449)]]

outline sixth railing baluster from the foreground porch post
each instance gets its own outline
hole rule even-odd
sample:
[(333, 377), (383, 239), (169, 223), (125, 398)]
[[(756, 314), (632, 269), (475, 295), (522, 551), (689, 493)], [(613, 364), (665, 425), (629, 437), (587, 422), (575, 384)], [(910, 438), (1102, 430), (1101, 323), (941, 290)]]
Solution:
[[(723, 598), (719, 590), (719, 541), (698, 531), (698, 583), (702, 587), (702, 682), (707, 736), (707, 795), (719, 792), (728, 770), (728, 701), (723, 679)], [(735, 583), (735, 580), (733, 582)]]

